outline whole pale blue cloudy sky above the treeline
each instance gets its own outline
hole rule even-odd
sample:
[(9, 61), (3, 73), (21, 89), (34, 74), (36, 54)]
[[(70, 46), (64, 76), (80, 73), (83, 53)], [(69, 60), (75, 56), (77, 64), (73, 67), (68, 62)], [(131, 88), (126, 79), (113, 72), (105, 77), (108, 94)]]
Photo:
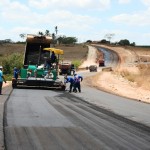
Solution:
[(78, 42), (127, 39), (150, 45), (150, 0), (0, 0), (0, 40), (49, 30)]

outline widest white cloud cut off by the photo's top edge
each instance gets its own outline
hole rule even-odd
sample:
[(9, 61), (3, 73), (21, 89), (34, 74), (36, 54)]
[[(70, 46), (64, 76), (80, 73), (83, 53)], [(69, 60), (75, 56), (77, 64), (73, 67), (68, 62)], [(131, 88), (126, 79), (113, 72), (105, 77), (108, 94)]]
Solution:
[(29, 5), (31, 7), (36, 7), (39, 9), (44, 8), (65, 8), (65, 9), (98, 9), (104, 10), (110, 6), (110, 0), (29, 0)]

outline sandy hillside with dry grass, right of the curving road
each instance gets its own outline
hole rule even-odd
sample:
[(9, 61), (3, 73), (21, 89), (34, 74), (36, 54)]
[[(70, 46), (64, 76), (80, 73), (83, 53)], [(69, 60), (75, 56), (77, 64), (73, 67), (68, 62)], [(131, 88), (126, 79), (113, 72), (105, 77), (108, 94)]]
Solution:
[(89, 77), (88, 85), (150, 103), (150, 48), (100, 46), (115, 51), (120, 64), (113, 71), (101, 71)]

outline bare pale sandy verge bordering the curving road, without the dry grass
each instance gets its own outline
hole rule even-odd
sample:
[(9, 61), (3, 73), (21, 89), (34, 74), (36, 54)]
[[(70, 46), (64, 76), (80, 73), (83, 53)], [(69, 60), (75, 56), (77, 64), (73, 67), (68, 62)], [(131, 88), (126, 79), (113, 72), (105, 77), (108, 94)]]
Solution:
[[(105, 47), (118, 53), (121, 60), (120, 65), (113, 72), (100, 72), (95, 76), (86, 78), (86, 83), (90, 86), (115, 95), (150, 103), (149, 90), (138, 87), (136, 83), (128, 81), (119, 74), (119, 71), (122, 70), (138, 73), (138, 68), (133, 63), (136, 61), (135, 55), (130, 50), (124, 50), (123, 48)], [(90, 51), (91, 53), (95, 53), (92, 47), (89, 47), (89, 52)], [(88, 57), (84, 62), (84, 65), (86, 66), (86, 63), (88, 65), (88, 62), (90, 61), (90, 57)]]

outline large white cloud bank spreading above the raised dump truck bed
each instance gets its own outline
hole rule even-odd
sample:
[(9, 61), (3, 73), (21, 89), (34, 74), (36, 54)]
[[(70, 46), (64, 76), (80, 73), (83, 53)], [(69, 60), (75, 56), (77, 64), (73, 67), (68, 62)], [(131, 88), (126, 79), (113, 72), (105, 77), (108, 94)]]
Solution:
[[(89, 31), (92, 30), (94, 25), (101, 22), (101, 19), (97, 17), (73, 14), (69, 11), (63, 10), (53, 12), (50, 11), (46, 14), (40, 15), (38, 13), (29, 11), (26, 13), (26, 16), (21, 16), (19, 13), (5, 13), (5, 17), (8, 20), (12, 19), (10, 20), (10, 23), (12, 23), (12, 21), (15, 19), (14, 27), (11, 26), (7, 32), (10, 35), (16, 35), (16, 37), (9, 37), (8, 35), (7, 37), (13, 39), (13, 41), (17, 41), (17, 39), (20, 38), (19, 34), (21, 33), (36, 34), (39, 31), (45, 32), (47, 29), (50, 31), (50, 33), (53, 33), (56, 25), (58, 26), (59, 35), (77, 37), (80, 35), (82, 36), (82, 34), (85, 32), (89, 34)], [(19, 26), (17, 24), (19, 24)], [(4, 30), (5, 29), (3, 29), (3, 31)], [(4, 38), (6, 38), (6, 36), (4, 36)]]

